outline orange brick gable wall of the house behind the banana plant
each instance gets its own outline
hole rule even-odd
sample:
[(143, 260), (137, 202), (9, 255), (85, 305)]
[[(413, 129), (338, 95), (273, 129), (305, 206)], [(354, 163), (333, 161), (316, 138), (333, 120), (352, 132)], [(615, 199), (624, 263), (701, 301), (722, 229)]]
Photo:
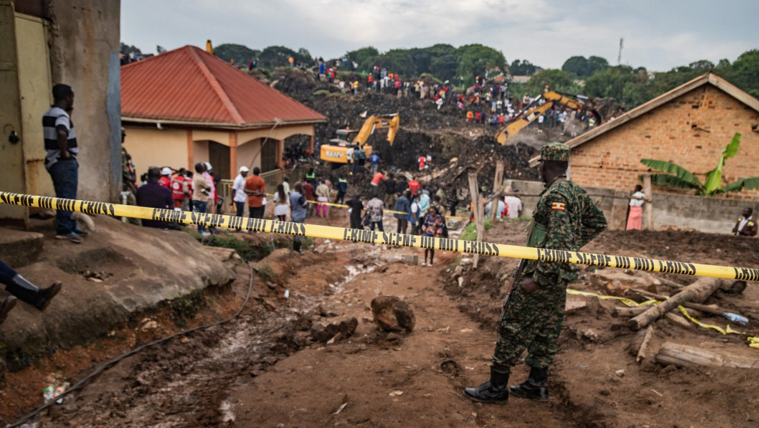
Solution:
[[(603, 133), (572, 149), (572, 180), (581, 186), (603, 187), (631, 192), (647, 173), (643, 158), (671, 161), (698, 173), (712, 170), (734, 133), (742, 140), (735, 158), (726, 161), (726, 183), (759, 176), (759, 133), (751, 125), (759, 123), (759, 112), (731, 95), (706, 84), (665, 105)], [(666, 186), (655, 192), (691, 194)], [(724, 196), (759, 201), (759, 191)]]

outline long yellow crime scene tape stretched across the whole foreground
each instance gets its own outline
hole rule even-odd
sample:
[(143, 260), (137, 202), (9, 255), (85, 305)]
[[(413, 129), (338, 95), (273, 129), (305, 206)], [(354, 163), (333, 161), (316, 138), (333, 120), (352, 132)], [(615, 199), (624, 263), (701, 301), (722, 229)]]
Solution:
[(620, 255), (602, 255), (581, 251), (553, 250), (548, 248), (521, 247), (493, 242), (464, 241), (461, 239), (436, 238), (432, 236), (405, 235), (402, 233), (375, 232), (373, 230), (349, 229), (347, 227), (322, 226), (279, 220), (235, 217), (223, 214), (175, 211), (162, 208), (136, 207), (133, 205), (90, 202), (52, 196), (21, 195), (0, 192), (0, 204), (25, 205), (86, 214), (104, 214), (114, 217), (134, 217), (146, 220), (171, 221), (228, 229), (244, 229), (257, 232), (280, 233), (312, 238), (338, 239), (367, 244), (395, 245), (433, 250), (456, 251), (479, 255), (549, 261), (556, 263), (588, 264), (591, 266), (620, 267), (647, 270), (649, 272), (680, 273), (691, 276), (713, 276), (734, 280), (757, 281), (759, 269), (749, 267), (716, 266), (682, 261), (666, 261), (652, 258), (634, 258)]

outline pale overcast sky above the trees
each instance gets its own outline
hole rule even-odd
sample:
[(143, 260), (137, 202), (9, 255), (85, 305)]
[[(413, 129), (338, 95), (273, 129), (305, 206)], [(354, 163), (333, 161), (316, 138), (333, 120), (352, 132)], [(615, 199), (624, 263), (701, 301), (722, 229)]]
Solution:
[(121, 0), (121, 41), (143, 52), (238, 43), (339, 58), (374, 46), (480, 43), (511, 63), (560, 68), (575, 55), (666, 71), (759, 48), (757, 0)]

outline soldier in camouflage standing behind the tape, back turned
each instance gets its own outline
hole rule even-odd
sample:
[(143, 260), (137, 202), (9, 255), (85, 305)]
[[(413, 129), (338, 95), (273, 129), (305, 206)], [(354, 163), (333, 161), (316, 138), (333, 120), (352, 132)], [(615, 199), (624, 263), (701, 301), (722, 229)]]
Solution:
[[(566, 180), (569, 148), (551, 143), (540, 149), (540, 175), (546, 189), (533, 214), (528, 246), (578, 251), (606, 229), (606, 218), (587, 193)], [(567, 283), (577, 279), (571, 263), (527, 261), (518, 286), (512, 290), (498, 329), (498, 342), (490, 367), (490, 381), (465, 389), (475, 401), (505, 403), (512, 394), (548, 401), (548, 367), (558, 350), (564, 320)], [(506, 388), (509, 373), (524, 349), (531, 367), (528, 380)]]

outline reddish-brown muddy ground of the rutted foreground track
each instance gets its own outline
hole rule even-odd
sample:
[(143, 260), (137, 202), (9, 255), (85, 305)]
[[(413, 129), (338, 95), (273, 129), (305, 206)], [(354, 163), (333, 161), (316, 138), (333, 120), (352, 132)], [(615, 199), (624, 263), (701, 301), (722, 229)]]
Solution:
[[(329, 224), (347, 225), (344, 215), (333, 210)], [(388, 220), (386, 227), (392, 223)], [(487, 239), (521, 244), (523, 234), (524, 223), (505, 222), (489, 230)], [(607, 232), (584, 249), (752, 267), (759, 265), (753, 242), (691, 232)], [(483, 258), (472, 270), (468, 257), (437, 251), (435, 265), (421, 267), (393, 262), (398, 255), (421, 260), (422, 251), (412, 248), (317, 239), (314, 249), (300, 256), (281, 248), (255, 262), (251, 298), (241, 317), (121, 361), (35, 421), (43, 427), (759, 424), (755, 370), (638, 364), (642, 334), (611, 316), (610, 308), (619, 304), (592, 298), (565, 319), (548, 403), (519, 398), (507, 405), (474, 403), (461, 390), (486, 379), (503, 291), (499, 277), (511, 271), (514, 261)], [(59, 351), (33, 367), (6, 373), (3, 422), (42, 404), (46, 378), (75, 383), (103, 361), (181, 330), (179, 325), (234, 313), (247, 293), (250, 268), (234, 258), (227, 262), (235, 266), (238, 280), (206, 295), (194, 317), (178, 323), (176, 308), (164, 308), (86, 348)], [(461, 285), (454, 276), (459, 265)], [(572, 287), (602, 292), (593, 285), (594, 274), (585, 270)], [(692, 280), (663, 277), (683, 284)], [(377, 329), (370, 301), (378, 295), (395, 295), (411, 306), (416, 317), (411, 333)], [(716, 292), (707, 303), (749, 317), (742, 330), (759, 336), (757, 299), (759, 290), (750, 284), (742, 295)], [(313, 340), (317, 324), (349, 317), (358, 321), (352, 336)], [(720, 317), (701, 320), (726, 324)], [(654, 329), (656, 345), (677, 342), (754, 358), (757, 352), (742, 335), (723, 336), (669, 320), (658, 321)], [(518, 365), (512, 382), (520, 383), (527, 373), (528, 367)]]

